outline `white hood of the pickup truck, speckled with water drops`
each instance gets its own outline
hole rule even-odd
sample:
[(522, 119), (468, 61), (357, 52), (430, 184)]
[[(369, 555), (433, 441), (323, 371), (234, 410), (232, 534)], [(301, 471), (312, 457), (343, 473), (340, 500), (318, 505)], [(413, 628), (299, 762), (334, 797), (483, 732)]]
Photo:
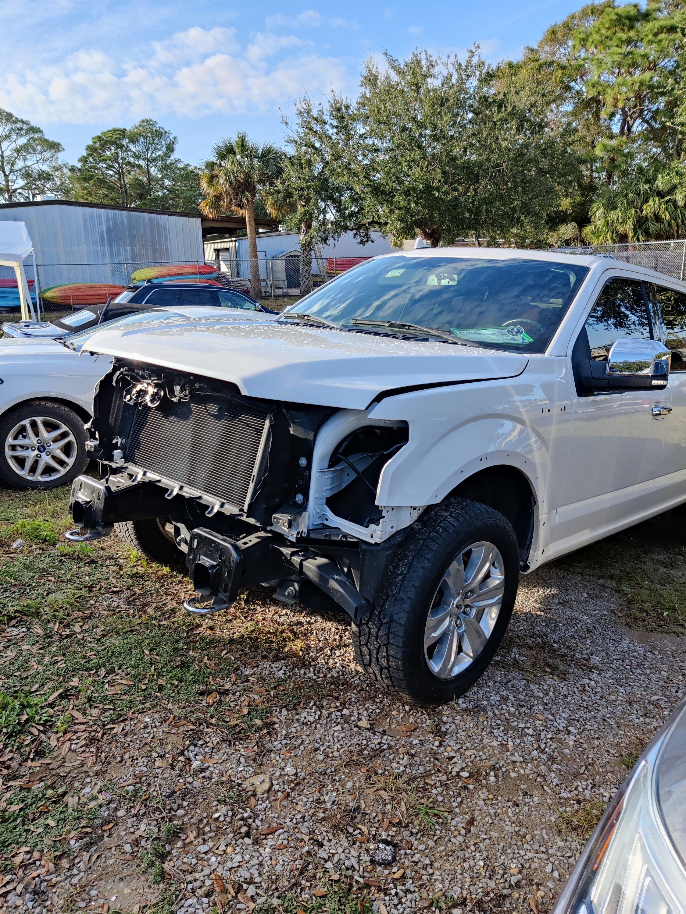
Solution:
[(365, 409), (384, 391), (515, 377), (519, 353), (304, 324), (219, 317), (106, 326), (83, 351), (235, 384), (242, 394)]

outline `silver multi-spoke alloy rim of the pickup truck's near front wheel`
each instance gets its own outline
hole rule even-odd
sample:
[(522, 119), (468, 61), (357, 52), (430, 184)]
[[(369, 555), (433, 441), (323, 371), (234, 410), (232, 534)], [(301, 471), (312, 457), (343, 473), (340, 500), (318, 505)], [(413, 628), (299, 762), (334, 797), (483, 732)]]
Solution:
[(482, 653), (505, 593), (505, 565), (493, 543), (472, 543), (445, 570), (424, 626), (424, 658), (438, 679), (464, 673)]

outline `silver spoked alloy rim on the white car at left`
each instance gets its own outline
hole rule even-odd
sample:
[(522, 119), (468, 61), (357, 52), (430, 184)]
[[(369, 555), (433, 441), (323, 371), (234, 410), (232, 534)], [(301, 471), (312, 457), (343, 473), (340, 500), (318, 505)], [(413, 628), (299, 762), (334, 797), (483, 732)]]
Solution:
[(5, 438), (5, 460), (21, 479), (48, 483), (70, 472), (79, 447), (64, 422), (50, 416), (29, 416)]

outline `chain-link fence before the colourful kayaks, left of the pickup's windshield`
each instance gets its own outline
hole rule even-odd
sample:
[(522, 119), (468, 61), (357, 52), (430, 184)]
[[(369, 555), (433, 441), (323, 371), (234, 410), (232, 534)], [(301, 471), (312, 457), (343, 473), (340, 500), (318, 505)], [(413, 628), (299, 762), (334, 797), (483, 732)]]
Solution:
[[(281, 310), (301, 294), (316, 289), (368, 257), (321, 257), (313, 255), (301, 263), (299, 254), (255, 260), (228, 256), (221, 251), (217, 260), (120, 262), (120, 263), (27, 263), (25, 271), (34, 303), (46, 316), (65, 314), (88, 304), (105, 303), (126, 286), (145, 282), (202, 282), (226, 286), (250, 295), (256, 301), (273, 303)], [(303, 269), (305, 268), (305, 269)], [(19, 294), (13, 271), (0, 268), (0, 312), (18, 316)]]

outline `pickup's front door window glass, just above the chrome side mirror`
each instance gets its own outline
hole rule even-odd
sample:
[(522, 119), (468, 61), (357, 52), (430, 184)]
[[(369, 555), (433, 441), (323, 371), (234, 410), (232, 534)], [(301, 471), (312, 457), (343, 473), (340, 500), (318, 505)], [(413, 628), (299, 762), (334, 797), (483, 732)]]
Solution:
[(643, 288), (635, 280), (610, 280), (598, 296), (585, 323), (591, 358), (606, 361), (622, 336), (650, 339), (648, 308)]

